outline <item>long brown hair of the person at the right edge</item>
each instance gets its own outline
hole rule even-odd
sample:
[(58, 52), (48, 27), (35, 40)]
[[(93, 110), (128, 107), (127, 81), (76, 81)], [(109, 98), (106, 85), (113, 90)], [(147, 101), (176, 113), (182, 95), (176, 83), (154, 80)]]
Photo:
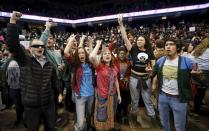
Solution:
[(194, 49), (193, 55), (198, 57), (202, 55), (202, 53), (209, 48), (209, 38), (205, 38), (201, 41), (201, 43)]

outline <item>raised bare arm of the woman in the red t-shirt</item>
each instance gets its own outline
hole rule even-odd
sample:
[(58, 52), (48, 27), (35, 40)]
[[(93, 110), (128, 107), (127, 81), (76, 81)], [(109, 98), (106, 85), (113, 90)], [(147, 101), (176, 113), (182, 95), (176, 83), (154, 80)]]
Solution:
[(102, 44), (102, 41), (101, 40), (97, 40), (96, 43), (97, 44), (96, 44), (95, 48), (93, 49), (93, 51), (89, 55), (89, 60), (94, 65), (94, 67), (97, 67), (99, 65), (99, 60), (97, 59), (97, 53), (98, 53), (99, 48), (100, 48), (100, 46)]

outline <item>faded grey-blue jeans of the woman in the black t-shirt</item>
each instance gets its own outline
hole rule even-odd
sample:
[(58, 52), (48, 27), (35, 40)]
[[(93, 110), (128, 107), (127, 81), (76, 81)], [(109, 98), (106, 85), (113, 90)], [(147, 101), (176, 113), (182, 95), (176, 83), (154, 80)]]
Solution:
[(138, 112), (138, 103), (139, 103), (139, 96), (140, 93), (142, 95), (142, 99), (144, 101), (147, 114), (151, 117), (155, 116), (155, 110), (154, 106), (151, 102), (150, 96), (151, 96), (151, 79), (146, 80), (146, 84), (148, 86), (148, 89), (143, 89), (143, 87), (138, 87), (139, 80), (135, 77), (130, 76), (129, 81), (129, 88), (130, 88), (130, 94), (131, 94), (131, 112), (135, 113)]

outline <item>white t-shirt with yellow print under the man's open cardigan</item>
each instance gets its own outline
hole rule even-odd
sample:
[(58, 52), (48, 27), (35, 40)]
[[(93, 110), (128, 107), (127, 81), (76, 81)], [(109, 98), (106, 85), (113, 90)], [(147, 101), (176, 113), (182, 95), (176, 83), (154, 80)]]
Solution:
[(179, 94), (177, 82), (178, 59), (179, 57), (174, 60), (166, 59), (163, 66), (162, 91), (171, 95)]

